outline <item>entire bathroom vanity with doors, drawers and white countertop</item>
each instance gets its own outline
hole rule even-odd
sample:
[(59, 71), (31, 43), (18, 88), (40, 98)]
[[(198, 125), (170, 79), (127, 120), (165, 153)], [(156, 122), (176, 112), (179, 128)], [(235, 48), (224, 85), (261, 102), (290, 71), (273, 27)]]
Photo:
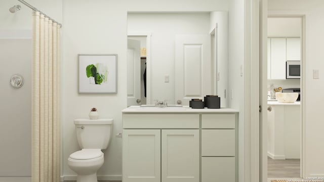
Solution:
[(237, 115), (123, 110), (123, 182), (236, 182)]

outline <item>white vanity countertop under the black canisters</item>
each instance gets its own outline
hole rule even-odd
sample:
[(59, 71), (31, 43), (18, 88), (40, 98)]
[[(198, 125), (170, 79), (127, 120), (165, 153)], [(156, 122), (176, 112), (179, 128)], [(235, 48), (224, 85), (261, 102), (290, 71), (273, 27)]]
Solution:
[(183, 106), (179, 108), (173, 107), (140, 107), (140, 106), (130, 106), (121, 112), (123, 113), (236, 113), (238, 110), (230, 108), (220, 108), (220, 109), (192, 109), (189, 106)]

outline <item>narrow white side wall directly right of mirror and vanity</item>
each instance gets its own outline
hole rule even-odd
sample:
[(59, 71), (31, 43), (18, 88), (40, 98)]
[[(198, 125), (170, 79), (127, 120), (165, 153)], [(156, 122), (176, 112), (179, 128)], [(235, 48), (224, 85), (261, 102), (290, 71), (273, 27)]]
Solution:
[(244, 65), (245, 2), (231, 0), (228, 12), (228, 105), (239, 110), (238, 119), (238, 180), (245, 181), (245, 121), (244, 121), (244, 74), (240, 76), (240, 66)]

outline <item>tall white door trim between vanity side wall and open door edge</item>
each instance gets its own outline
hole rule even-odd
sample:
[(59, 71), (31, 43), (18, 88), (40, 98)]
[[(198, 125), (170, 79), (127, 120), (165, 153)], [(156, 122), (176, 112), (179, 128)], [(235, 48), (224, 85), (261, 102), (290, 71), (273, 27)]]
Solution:
[[(259, 0), (245, 5), (245, 181), (259, 181)], [(249, 180), (250, 179), (250, 180)]]

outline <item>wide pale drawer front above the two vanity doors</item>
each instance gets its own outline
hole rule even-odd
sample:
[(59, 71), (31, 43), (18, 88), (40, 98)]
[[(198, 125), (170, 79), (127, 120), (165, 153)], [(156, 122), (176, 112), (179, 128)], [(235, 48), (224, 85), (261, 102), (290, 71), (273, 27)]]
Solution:
[(199, 128), (199, 114), (123, 114), (123, 128)]

